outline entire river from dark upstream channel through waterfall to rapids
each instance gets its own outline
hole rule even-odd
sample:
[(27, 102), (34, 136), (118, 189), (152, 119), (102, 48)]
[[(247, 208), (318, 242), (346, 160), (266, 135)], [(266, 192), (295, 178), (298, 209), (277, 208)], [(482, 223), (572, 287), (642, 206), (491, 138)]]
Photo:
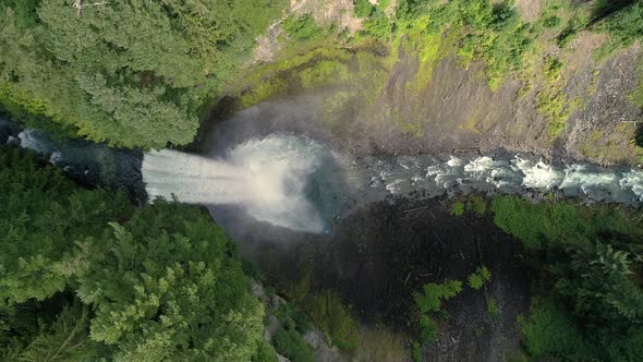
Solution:
[(262, 124), (256, 109), (240, 112), (210, 131), (202, 155), (61, 141), (7, 119), (0, 120), (0, 142), (20, 143), (82, 183), (120, 189), (138, 202), (175, 196), (219, 209), (228, 205), (252, 219), (313, 233), (328, 231), (332, 219), (359, 205), (410, 193), (533, 197), (550, 192), (587, 203), (643, 204), (643, 171), (632, 167), (556, 164), (507, 153), (356, 156), (315, 132), (265, 124), (260, 132), (240, 132), (239, 117)]

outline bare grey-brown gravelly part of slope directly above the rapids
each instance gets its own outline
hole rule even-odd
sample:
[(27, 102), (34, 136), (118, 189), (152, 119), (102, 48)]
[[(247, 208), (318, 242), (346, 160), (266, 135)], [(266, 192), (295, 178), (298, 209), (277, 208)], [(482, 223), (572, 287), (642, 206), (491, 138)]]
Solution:
[[(421, 92), (407, 86), (417, 74), (417, 60), (412, 53), (404, 55), (393, 68), (383, 101), (366, 110), (371, 114), (365, 118), (385, 124), (402, 122), (414, 130), (403, 142), (409, 152), (505, 148), (599, 164), (635, 162), (632, 140), (643, 113), (628, 95), (636, 85), (633, 74), (640, 47), (603, 64), (595, 64), (583, 52), (587, 53), (577, 50), (578, 58), (572, 59), (560, 84), (548, 84), (534, 74), (531, 88), (525, 89), (521, 80), (509, 79), (495, 90), (487, 86), (483, 63), (464, 69), (456, 57), (448, 57), (437, 62), (428, 86)], [(550, 132), (551, 120), (538, 109), (542, 94), (554, 87), (561, 89), (567, 100), (563, 107), (568, 107), (565, 112), (569, 112), (556, 135)], [(386, 150), (400, 147), (399, 140), (387, 140), (386, 134), (372, 136)]]

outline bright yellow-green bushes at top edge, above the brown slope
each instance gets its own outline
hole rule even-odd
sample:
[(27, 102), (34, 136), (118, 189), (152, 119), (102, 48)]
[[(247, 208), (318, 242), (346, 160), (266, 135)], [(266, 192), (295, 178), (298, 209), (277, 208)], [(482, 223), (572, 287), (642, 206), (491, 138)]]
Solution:
[(416, 92), (428, 86), (437, 61), (452, 51), (464, 65), (483, 60), (495, 89), (507, 74), (525, 67), (524, 55), (537, 35), (533, 26), (520, 21), (509, 1), (401, 0), (390, 19), (385, 5), (373, 7), (366, 0), (357, 1), (355, 9), (366, 16), (362, 37), (390, 43), (392, 53), (401, 46), (407, 53), (417, 55), (420, 70), (409, 84)]

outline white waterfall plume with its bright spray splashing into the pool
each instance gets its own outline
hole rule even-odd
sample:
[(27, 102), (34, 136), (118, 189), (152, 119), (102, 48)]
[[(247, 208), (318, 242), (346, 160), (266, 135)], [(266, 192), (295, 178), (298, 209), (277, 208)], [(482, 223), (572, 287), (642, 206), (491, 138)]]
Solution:
[(251, 140), (220, 159), (166, 149), (145, 155), (143, 182), (150, 200), (240, 205), (257, 220), (320, 232), (324, 222), (305, 191), (322, 154), (322, 146), (293, 136)]

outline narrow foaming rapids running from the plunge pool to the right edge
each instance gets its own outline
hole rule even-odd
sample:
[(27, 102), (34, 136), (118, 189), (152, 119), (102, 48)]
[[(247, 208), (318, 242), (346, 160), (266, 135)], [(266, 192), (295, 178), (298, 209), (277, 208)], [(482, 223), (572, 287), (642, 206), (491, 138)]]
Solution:
[(423, 190), (436, 196), (445, 193), (497, 191), (558, 191), (595, 202), (630, 205), (643, 203), (643, 171), (633, 168), (603, 168), (587, 164), (553, 166), (542, 159), (517, 155), (511, 159), (488, 156), (401, 157), (369, 161), (377, 170), (373, 188), (384, 185), (393, 194)]

